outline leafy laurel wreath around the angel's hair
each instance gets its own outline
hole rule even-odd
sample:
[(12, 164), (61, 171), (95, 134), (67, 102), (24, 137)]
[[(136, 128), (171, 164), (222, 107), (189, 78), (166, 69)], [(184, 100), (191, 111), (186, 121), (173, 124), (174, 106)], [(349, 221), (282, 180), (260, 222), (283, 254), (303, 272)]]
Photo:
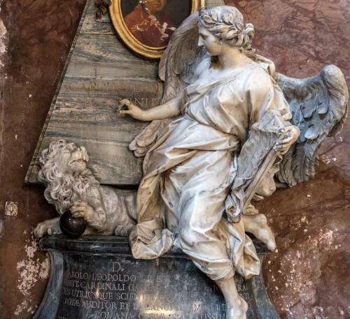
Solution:
[(220, 20), (216, 11), (212, 11), (210, 14), (207, 9), (202, 8), (200, 10), (200, 23), (216, 38), (225, 43), (237, 47), (246, 47), (251, 44), (251, 38), (254, 34), (253, 24), (235, 22), (234, 16), (230, 13), (224, 13)]

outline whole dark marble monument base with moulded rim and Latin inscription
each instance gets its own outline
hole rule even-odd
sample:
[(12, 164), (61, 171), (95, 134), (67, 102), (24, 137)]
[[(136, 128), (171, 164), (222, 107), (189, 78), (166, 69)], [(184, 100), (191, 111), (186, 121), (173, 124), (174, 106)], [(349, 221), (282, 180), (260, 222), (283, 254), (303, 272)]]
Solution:
[[(176, 248), (136, 260), (126, 237), (55, 235), (40, 245), (50, 253), (51, 271), (34, 319), (225, 319), (221, 291)], [(262, 261), (267, 248), (255, 247)], [(248, 319), (279, 318), (262, 276), (235, 279)]]

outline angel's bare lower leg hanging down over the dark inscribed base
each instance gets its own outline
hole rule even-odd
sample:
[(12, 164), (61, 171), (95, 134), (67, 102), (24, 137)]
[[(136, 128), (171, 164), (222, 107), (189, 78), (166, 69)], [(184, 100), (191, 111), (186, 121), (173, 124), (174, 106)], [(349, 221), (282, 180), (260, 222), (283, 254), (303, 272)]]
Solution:
[(248, 304), (237, 292), (235, 279), (231, 277), (230, 279), (217, 280), (215, 282), (225, 298), (226, 319), (246, 319)]

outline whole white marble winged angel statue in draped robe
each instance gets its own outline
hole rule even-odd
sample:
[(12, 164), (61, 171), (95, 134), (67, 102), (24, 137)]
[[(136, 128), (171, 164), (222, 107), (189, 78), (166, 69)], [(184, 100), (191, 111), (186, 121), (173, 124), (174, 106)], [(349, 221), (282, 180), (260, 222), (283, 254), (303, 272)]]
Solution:
[(119, 111), (152, 121), (130, 144), (145, 156), (134, 257), (181, 248), (221, 288), (229, 319), (246, 318), (235, 272), (248, 279), (260, 271), (245, 232), (275, 248), (251, 199), (273, 193), (274, 176), (288, 186), (313, 177), (316, 149), (346, 115), (337, 67), (306, 80), (284, 77), (255, 54), (252, 38), (237, 8), (202, 8), (174, 32), (160, 61), (162, 104), (141, 110), (123, 100)]

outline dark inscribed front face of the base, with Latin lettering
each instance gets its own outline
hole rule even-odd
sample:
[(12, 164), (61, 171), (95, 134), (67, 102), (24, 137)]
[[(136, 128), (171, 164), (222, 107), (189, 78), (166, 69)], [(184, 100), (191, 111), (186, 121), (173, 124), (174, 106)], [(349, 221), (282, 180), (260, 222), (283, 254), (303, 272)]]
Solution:
[[(235, 277), (249, 305), (248, 318), (258, 318), (251, 286)], [(64, 260), (57, 318), (225, 319), (225, 301), (214, 281), (187, 258), (102, 260), (69, 255)]]

